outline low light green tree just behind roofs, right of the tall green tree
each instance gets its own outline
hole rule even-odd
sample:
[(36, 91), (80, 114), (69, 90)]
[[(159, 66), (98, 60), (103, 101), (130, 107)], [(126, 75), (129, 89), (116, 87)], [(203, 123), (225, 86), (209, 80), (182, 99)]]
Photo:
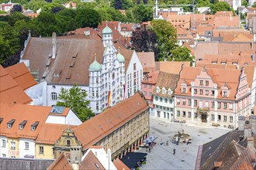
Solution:
[(190, 56), (190, 50), (185, 46), (176, 46), (171, 50), (171, 56), (168, 56), (168, 61), (190, 61), (193, 57)]

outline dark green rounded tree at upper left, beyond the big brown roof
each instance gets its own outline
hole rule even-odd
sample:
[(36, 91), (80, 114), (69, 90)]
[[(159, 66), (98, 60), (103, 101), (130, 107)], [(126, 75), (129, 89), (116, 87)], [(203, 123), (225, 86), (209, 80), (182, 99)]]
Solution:
[(78, 23), (78, 28), (96, 28), (102, 22), (99, 12), (92, 8), (78, 9), (78, 15), (76, 15), (75, 20)]

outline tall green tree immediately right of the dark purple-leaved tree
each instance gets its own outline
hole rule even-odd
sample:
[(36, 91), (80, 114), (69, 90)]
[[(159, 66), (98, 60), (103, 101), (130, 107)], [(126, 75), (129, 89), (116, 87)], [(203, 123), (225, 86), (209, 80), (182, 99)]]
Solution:
[(176, 29), (171, 26), (170, 22), (165, 20), (153, 20), (151, 24), (151, 29), (157, 35), (157, 49), (159, 51), (158, 60), (168, 58), (177, 42)]

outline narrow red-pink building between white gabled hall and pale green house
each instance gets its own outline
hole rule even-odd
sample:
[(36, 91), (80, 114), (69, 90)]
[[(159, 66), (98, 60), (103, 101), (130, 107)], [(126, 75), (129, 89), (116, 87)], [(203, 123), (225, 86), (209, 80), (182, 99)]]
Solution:
[(144, 80), (141, 81), (141, 90), (144, 93), (144, 97), (147, 100), (147, 103), (150, 107), (150, 113), (154, 113), (154, 104), (153, 104), (153, 90), (154, 86), (157, 83), (157, 76), (159, 71), (154, 71), (148, 73), (147, 76), (144, 76)]

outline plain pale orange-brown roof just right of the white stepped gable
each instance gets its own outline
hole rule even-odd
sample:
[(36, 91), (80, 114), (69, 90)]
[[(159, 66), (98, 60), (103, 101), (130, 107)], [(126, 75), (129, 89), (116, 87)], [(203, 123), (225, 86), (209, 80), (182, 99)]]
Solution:
[(137, 56), (140, 59), (144, 72), (152, 72), (155, 70), (154, 52), (137, 52)]

